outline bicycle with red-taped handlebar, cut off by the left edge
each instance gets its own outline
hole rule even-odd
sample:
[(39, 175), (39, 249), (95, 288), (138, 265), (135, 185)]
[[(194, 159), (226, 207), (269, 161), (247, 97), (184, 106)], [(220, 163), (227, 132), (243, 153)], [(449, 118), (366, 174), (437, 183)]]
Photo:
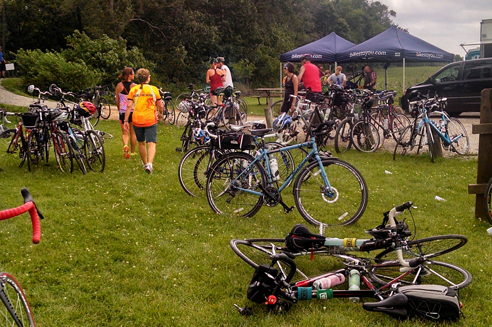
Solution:
[[(6, 220), (29, 212), (33, 224), (33, 243), (38, 244), (41, 240), (41, 227), (39, 218), (43, 215), (33, 201), (27, 188), (21, 190), (24, 197), (24, 204), (13, 209), (0, 211), (0, 220)], [(33, 310), (29, 305), (26, 293), (22, 289), (17, 279), (8, 272), (0, 273), (0, 299), (5, 306), (2, 310), (3, 324), (18, 327), (36, 327)]]

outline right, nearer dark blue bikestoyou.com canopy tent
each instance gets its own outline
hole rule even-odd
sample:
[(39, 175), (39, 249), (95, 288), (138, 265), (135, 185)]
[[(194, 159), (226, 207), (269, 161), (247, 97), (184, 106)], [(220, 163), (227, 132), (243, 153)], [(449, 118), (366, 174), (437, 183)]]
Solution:
[[(449, 63), (453, 61), (454, 55), (392, 26), (372, 39), (341, 51), (336, 59), (338, 63), (387, 63), (385, 68), (390, 63), (403, 62), (405, 89), (405, 62)], [(385, 78), (385, 88), (388, 89), (387, 69), (385, 69)]]

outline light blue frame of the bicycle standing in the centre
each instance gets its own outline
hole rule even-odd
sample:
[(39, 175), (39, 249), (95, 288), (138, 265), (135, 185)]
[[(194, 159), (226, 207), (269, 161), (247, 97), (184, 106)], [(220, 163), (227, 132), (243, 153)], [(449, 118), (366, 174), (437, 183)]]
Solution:
[[(255, 163), (257, 161), (259, 161), (259, 160), (262, 160), (262, 158), (263, 158), (265, 160), (265, 163), (267, 164), (268, 182), (269, 182), (270, 185), (273, 185), (272, 170), (270, 168), (270, 162), (269, 162), (269, 154), (270, 153), (277, 153), (277, 152), (289, 151), (289, 150), (293, 150), (293, 149), (299, 149), (301, 147), (306, 147), (306, 146), (312, 146), (313, 149), (311, 150), (311, 152), (309, 152), (309, 154), (306, 156), (306, 158), (304, 158), (302, 160), (302, 162), (296, 167), (296, 169), (290, 174), (290, 176), (285, 180), (285, 182), (280, 186), (279, 192), (282, 192), (282, 190), (284, 190), (287, 187), (287, 185), (289, 185), (290, 181), (299, 172), (299, 170), (301, 170), (302, 167), (306, 164), (306, 162), (311, 157), (314, 156), (316, 158), (316, 161), (318, 162), (319, 167), (320, 167), (321, 178), (323, 179), (324, 185), (325, 185), (328, 193), (331, 193), (332, 190), (331, 190), (330, 182), (328, 181), (328, 176), (326, 175), (326, 172), (325, 172), (325, 169), (324, 169), (323, 164), (321, 162), (321, 159), (319, 158), (318, 148), (316, 147), (316, 142), (314, 141), (314, 137), (312, 137), (311, 138), (311, 141), (309, 141), (309, 142), (305, 142), (305, 143), (301, 143), (301, 144), (296, 144), (296, 145), (291, 145), (291, 146), (288, 146), (288, 147), (284, 147), (284, 148), (280, 148), (280, 149), (275, 149), (275, 150), (271, 150), (271, 151), (269, 151), (267, 148), (264, 148), (260, 152), (260, 154), (255, 157), (255, 160), (253, 160), (253, 162), (249, 164), (249, 166), (247, 167), (247, 169), (244, 169), (243, 171), (241, 171), (241, 173), (239, 175), (237, 175), (237, 177), (234, 180), (231, 181), (231, 184), (234, 185), (234, 182), (237, 179), (239, 179), (241, 176), (243, 176), (245, 174), (249, 174), (250, 171), (252, 170), (252, 168), (254, 167)], [(253, 191), (253, 190), (245, 189), (245, 188), (241, 188), (241, 187), (237, 187), (237, 189), (240, 190), (240, 191), (252, 193), (252, 194), (255, 194), (255, 195), (258, 195), (258, 196), (263, 196), (263, 193), (262, 192), (257, 192), (257, 191)]]

